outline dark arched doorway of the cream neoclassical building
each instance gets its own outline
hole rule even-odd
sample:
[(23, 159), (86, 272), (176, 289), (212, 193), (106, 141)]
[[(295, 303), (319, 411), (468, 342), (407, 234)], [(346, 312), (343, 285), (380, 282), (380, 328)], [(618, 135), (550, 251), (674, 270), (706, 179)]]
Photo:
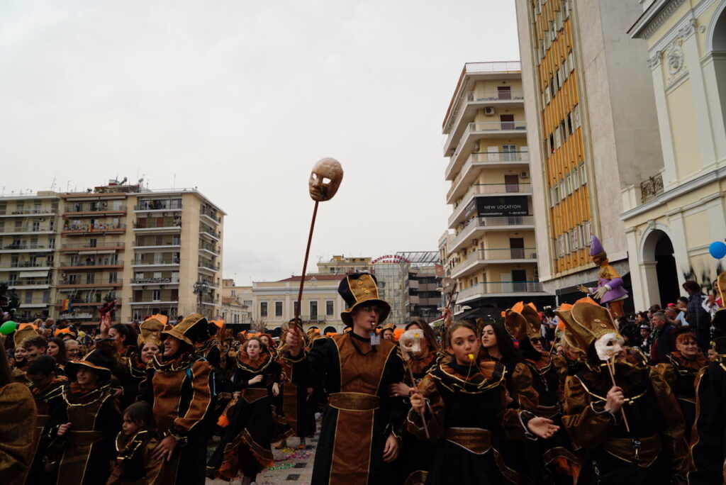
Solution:
[(648, 288), (648, 305), (666, 306), (675, 303), (680, 296), (678, 269), (670, 237), (660, 229), (645, 236), (643, 241), (643, 267), (645, 286)]

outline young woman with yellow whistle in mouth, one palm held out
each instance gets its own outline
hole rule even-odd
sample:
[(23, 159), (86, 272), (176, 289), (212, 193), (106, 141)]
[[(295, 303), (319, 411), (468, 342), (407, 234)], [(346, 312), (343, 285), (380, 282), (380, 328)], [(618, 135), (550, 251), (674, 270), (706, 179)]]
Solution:
[(549, 438), (558, 426), (530, 412), (507, 409), (502, 364), (477, 362), (476, 330), (454, 322), (446, 332), (449, 354), (423, 378), (411, 396), (408, 430), (436, 443), (427, 484), (519, 483), (492, 448), (492, 433), (507, 439)]

